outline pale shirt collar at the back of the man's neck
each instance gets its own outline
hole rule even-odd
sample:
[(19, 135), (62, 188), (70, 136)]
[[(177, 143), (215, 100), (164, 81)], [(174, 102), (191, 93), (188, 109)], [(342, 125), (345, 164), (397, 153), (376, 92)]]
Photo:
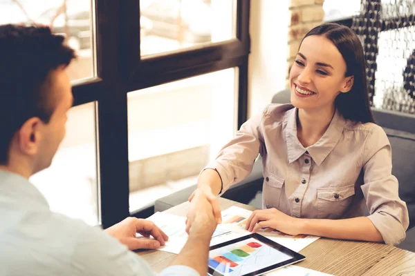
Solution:
[(26, 205), (49, 209), (48, 201), (29, 179), (14, 172), (0, 170), (0, 194), (14, 201), (24, 201)]

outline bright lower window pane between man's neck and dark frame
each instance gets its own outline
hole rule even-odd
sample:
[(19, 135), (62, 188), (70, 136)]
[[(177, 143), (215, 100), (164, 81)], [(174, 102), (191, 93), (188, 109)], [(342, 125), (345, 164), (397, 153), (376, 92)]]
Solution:
[(71, 108), (66, 136), (52, 165), (30, 178), (51, 210), (91, 225), (100, 222), (95, 121), (95, 103)]

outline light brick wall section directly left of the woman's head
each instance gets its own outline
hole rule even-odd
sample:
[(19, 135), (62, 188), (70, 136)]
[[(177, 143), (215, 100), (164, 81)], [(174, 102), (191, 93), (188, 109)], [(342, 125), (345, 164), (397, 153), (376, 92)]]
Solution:
[(324, 18), (324, 0), (291, 0), (290, 3), (290, 24), (288, 26), (288, 55), (287, 55), (287, 81), (288, 75), (293, 66), (295, 55), (304, 35), (322, 23)]

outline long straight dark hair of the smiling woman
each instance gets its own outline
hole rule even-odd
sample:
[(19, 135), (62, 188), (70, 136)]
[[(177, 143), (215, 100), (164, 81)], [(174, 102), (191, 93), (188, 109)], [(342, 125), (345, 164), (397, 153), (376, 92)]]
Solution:
[(346, 61), (346, 77), (354, 76), (351, 90), (340, 93), (335, 99), (336, 108), (344, 119), (374, 123), (369, 104), (365, 55), (358, 36), (350, 28), (336, 23), (324, 23), (313, 28), (303, 40), (311, 35), (324, 35), (330, 39)]

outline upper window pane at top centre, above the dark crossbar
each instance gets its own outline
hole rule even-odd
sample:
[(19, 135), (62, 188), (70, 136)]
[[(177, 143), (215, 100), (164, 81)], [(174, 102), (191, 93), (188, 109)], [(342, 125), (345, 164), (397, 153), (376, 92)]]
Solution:
[(236, 0), (140, 0), (142, 56), (229, 40)]

